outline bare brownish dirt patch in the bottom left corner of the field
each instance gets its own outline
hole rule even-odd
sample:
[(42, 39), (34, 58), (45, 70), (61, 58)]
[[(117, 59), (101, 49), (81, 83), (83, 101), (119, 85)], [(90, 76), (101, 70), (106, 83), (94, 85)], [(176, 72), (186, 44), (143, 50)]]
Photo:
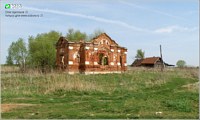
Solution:
[(1, 112), (9, 112), (15, 108), (33, 106), (35, 104), (1, 104)]

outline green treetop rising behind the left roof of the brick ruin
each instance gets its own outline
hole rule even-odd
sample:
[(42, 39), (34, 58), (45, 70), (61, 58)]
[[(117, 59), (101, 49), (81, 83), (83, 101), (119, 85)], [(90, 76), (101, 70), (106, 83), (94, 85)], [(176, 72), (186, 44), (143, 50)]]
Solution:
[(68, 30), (66, 37), (69, 41), (78, 42), (80, 40), (86, 40), (87, 34), (71, 28)]

